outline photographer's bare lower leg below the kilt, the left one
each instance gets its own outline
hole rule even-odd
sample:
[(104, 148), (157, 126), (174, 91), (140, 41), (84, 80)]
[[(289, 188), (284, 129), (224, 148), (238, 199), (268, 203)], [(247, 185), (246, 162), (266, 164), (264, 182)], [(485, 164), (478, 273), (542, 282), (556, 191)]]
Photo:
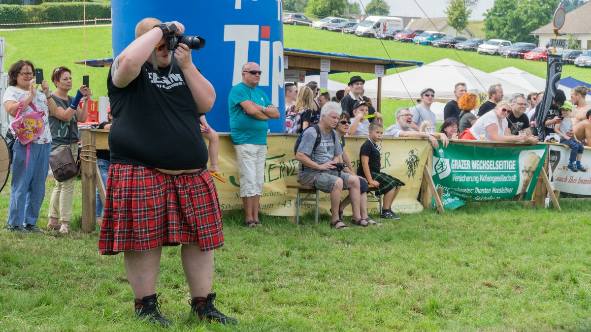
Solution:
[(126, 251), (125, 274), (135, 298), (144, 298), (156, 292), (162, 247), (147, 251)]

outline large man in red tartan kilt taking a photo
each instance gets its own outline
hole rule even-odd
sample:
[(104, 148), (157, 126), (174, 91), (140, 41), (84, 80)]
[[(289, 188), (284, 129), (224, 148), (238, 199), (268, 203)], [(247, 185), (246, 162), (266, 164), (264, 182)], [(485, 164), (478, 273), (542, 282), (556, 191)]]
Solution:
[(190, 314), (236, 323), (214, 307), (211, 292), (213, 250), (223, 246), (223, 229), (199, 113), (212, 108), (216, 94), (190, 48), (175, 43), (183, 32), (176, 21), (142, 19), (135, 41), (109, 71), (111, 168), (99, 250), (124, 252), (136, 316), (169, 326), (156, 281), (162, 247), (181, 245)]

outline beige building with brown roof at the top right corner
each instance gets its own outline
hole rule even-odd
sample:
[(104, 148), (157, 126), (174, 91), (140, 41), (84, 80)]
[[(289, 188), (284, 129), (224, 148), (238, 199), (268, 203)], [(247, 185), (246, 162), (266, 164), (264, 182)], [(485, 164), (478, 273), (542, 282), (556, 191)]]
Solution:
[[(569, 39), (570, 37), (574, 37), (577, 44), (581, 45), (583, 50), (590, 50), (591, 20), (589, 20), (589, 17), (591, 17), (591, 1), (566, 14), (564, 26), (559, 31), (560, 33), (566, 33), (566, 35), (559, 36), (558, 38)], [(546, 44), (550, 43), (550, 38), (554, 38), (554, 24), (552, 19), (550, 19), (550, 23), (530, 32), (530, 35), (538, 38), (538, 46), (545, 47)], [(569, 48), (573, 48), (572, 45)]]

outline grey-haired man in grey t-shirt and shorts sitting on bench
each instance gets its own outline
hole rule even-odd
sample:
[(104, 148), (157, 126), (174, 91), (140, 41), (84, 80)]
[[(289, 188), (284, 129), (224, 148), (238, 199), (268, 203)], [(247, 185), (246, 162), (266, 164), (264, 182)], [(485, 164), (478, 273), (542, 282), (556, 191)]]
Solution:
[(336, 229), (348, 228), (339, 219), (340, 196), (343, 189), (349, 189), (353, 223), (361, 224), (359, 178), (350, 176), (347, 172), (338, 172), (335, 166), (339, 162), (339, 156), (343, 154), (343, 149), (333, 128), (336, 127), (342, 112), (340, 105), (335, 102), (324, 104), (318, 122), (319, 144), (314, 148), (318, 132), (316, 128), (310, 128), (302, 134), (301, 143), (296, 152), (296, 160), (300, 162), (297, 181), (301, 185), (314, 185), (320, 191), (330, 193), (332, 211), (330, 226)]

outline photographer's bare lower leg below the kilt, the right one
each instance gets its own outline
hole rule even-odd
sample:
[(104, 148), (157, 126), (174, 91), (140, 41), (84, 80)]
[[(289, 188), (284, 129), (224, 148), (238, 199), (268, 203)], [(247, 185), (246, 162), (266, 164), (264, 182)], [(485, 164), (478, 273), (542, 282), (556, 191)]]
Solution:
[(199, 244), (181, 247), (181, 262), (191, 298), (207, 297), (212, 292), (213, 250), (201, 251)]

